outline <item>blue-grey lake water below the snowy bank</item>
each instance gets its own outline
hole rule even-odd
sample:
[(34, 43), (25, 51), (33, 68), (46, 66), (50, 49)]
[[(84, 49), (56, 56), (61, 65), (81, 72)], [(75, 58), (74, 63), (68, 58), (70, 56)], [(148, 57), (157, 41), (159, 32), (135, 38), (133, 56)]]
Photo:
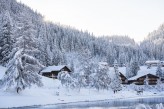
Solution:
[[(14, 109), (164, 109), (164, 97), (128, 98), (94, 102), (63, 103), (46, 106), (32, 106)], [(160, 107), (160, 108), (159, 108)]]

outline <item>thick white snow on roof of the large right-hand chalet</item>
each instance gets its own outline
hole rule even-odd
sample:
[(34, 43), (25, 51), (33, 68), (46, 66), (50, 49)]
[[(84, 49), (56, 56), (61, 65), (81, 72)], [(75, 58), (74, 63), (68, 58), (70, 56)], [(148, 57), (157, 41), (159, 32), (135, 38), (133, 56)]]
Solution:
[(152, 74), (156, 76), (156, 71), (157, 71), (157, 67), (151, 67), (150, 69), (147, 69), (146, 66), (141, 66), (140, 70), (138, 71), (137, 75), (134, 77), (129, 78), (128, 80), (136, 80), (139, 77), (145, 76), (147, 74)]

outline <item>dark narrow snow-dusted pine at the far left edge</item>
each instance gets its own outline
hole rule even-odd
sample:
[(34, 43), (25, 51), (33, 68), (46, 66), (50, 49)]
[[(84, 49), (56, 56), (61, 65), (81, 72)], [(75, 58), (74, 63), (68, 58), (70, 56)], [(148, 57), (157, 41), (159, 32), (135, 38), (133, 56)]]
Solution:
[(12, 49), (12, 21), (10, 13), (5, 11), (1, 19), (1, 31), (0, 31), (0, 64), (6, 66), (10, 57)]

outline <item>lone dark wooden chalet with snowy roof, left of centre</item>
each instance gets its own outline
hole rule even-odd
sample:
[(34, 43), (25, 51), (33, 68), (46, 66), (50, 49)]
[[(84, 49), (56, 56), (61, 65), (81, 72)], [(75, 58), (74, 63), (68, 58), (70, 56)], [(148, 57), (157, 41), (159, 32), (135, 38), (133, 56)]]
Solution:
[(49, 77), (49, 78), (55, 78), (57, 79), (58, 73), (61, 71), (67, 71), (68, 73), (71, 72), (71, 70), (65, 66), (65, 65), (60, 65), (60, 66), (48, 66), (44, 68), (40, 74), (43, 76)]

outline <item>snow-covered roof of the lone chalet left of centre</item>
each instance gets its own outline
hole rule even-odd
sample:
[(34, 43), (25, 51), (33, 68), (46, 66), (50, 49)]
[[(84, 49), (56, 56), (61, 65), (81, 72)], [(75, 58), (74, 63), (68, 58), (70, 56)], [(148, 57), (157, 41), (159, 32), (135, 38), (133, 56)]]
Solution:
[(52, 71), (60, 71), (62, 68), (64, 68), (65, 65), (59, 65), (59, 66), (48, 66), (46, 68), (44, 68), (41, 73), (43, 72), (52, 72)]

